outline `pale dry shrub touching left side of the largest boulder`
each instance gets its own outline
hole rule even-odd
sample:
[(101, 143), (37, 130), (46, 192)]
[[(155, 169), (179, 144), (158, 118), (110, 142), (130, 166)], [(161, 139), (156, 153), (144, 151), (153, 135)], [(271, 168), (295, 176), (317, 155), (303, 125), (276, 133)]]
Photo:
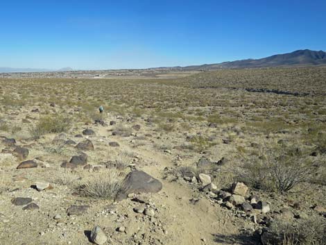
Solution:
[(117, 169), (101, 171), (89, 176), (77, 187), (81, 196), (113, 199), (121, 187), (121, 177)]

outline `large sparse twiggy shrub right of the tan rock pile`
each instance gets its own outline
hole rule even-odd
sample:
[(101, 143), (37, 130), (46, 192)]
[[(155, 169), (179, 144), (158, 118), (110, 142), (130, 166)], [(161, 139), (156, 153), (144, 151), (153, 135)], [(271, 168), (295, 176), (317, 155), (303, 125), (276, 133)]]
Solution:
[(243, 156), (238, 177), (257, 189), (284, 193), (307, 182), (316, 174), (314, 162), (294, 147), (274, 146), (272, 149)]

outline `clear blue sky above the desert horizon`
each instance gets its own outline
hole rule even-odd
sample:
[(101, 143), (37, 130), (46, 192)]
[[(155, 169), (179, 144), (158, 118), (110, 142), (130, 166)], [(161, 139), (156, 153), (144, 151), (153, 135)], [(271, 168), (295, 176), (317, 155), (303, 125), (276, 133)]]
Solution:
[(0, 67), (200, 65), (326, 49), (326, 1), (0, 3)]

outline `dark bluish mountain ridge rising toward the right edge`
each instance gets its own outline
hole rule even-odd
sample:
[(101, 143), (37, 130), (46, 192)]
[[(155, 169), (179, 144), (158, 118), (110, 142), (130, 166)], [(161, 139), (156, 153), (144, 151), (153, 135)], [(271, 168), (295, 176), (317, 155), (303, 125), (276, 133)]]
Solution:
[(309, 49), (297, 50), (292, 53), (277, 54), (261, 59), (236, 60), (209, 65), (193, 65), (180, 67), (186, 70), (219, 69), (219, 68), (258, 68), (258, 67), (291, 67), (305, 65), (326, 65), (324, 51), (311, 51)]

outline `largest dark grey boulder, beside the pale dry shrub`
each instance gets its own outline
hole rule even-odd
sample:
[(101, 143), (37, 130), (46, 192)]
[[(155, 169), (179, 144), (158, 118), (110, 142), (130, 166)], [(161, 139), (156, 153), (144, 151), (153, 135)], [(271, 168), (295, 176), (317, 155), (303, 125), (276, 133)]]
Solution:
[(162, 189), (160, 180), (153, 178), (144, 171), (131, 171), (123, 180), (117, 194), (117, 201), (126, 198), (130, 193), (157, 193)]

